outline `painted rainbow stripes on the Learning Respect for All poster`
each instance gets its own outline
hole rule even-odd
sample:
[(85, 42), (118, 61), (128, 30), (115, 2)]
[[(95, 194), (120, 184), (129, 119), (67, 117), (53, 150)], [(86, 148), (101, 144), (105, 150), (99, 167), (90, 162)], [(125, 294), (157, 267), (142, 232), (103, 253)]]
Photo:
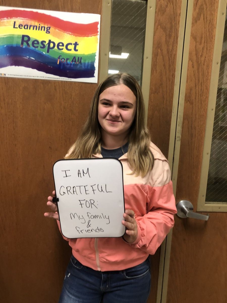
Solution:
[[(19, 24), (50, 27), (50, 33), (32, 28), (21, 29), (18, 28)], [(94, 77), (98, 22), (79, 24), (45, 13), (9, 9), (0, 11), (0, 29), (0, 68), (23, 66), (59, 77)], [(21, 47), (22, 35), (27, 36), (26, 41), (30, 38), (30, 47), (26, 43)], [(36, 44), (31, 45), (34, 40)], [(45, 41), (46, 46), (51, 41), (61, 47), (50, 48), (48, 51), (47, 47), (41, 47), (42, 41)], [(69, 46), (63, 48), (62, 45), (67, 43)], [(59, 57), (62, 61), (58, 60)], [(68, 58), (67, 63), (63, 58), (65, 61)]]

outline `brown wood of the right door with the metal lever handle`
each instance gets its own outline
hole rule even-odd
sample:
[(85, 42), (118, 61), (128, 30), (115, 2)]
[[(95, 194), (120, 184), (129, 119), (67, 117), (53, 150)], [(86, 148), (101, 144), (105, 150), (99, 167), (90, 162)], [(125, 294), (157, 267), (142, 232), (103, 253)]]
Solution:
[[(188, 67), (185, 71), (182, 132), (181, 139), (179, 136), (175, 142), (177, 145), (180, 140), (176, 202), (191, 201), (194, 212), (198, 211), (198, 201), (201, 198), (199, 184), (204, 136), (208, 123), (206, 116), (209, 110), (214, 110), (209, 108), (208, 103), (211, 72), (214, 66), (220, 65), (220, 60), (215, 60), (212, 67), (218, 6), (221, 2), (223, 1), (210, 0), (208, 3), (206, 0), (194, 0), (194, 4), (189, 3), (192, 4), (193, 11), (188, 41)], [(219, 15), (225, 17), (226, 2), (222, 8), (223, 11), (219, 11)], [(183, 73), (184, 71), (182, 75)], [(217, 94), (217, 86), (215, 89)], [(209, 156), (209, 151), (203, 158), (206, 155)], [(177, 161), (176, 156), (174, 162)], [(227, 201), (227, 197), (225, 198)], [(206, 212), (202, 214), (206, 215)], [(166, 302), (227, 302), (226, 222), (226, 212), (218, 211), (209, 212), (208, 221), (175, 217)]]

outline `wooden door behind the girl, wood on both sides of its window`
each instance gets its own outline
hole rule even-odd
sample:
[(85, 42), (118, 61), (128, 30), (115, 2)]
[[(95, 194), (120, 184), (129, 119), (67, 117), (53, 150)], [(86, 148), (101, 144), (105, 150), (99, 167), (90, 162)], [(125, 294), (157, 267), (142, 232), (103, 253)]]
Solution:
[[(156, 9), (150, 79), (148, 127), (152, 141), (168, 157), (176, 87), (177, 45), (182, 0), (159, 0)], [(102, 1), (2, 0), (1, 5), (101, 14)], [(56, 222), (44, 218), (54, 188), (52, 165), (64, 157), (86, 119), (97, 84), (1, 78), (2, 203), (0, 220), (0, 301), (57, 302), (71, 249)], [(51, 180), (51, 181), (50, 181)], [(152, 259), (156, 302), (159, 248)], [(163, 262), (162, 262), (163, 263)], [(161, 277), (162, 275), (160, 275)]]

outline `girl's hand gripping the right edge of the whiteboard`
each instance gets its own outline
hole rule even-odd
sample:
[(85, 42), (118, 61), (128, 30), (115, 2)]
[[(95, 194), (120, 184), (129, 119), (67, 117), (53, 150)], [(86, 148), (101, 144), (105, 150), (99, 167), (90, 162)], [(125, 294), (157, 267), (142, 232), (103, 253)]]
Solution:
[(123, 214), (125, 219), (121, 221), (121, 223), (126, 227), (126, 232), (123, 235), (123, 238), (128, 243), (133, 243), (137, 239), (138, 230), (137, 230), (137, 222), (135, 220), (135, 213), (131, 209), (126, 209)]

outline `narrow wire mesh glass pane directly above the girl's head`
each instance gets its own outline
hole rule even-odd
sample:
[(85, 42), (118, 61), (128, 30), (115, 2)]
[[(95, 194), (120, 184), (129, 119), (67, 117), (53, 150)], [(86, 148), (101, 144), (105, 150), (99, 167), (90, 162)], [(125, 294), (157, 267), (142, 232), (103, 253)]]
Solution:
[(147, 1), (112, 0), (109, 74), (126, 72), (141, 83)]

